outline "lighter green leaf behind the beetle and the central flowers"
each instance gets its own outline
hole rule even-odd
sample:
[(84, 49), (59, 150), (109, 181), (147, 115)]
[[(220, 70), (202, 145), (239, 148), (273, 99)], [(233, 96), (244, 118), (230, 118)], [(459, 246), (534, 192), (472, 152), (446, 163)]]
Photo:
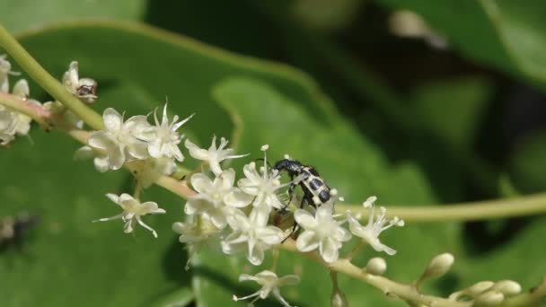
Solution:
[[(317, 121), (295, 101), (266, 83), (241, 77), (226, 79), (217, 85), (215, 96), (232, 114), (245, 118), (238, 127), (241, 152), (259, 157), (260, 146), (269, 144), (270, 161), (289, 153), (301, 162), (313, 163), (330, 186), (338, 188), (352, 203), (363, 201), (374, 193), (379, 195), (380, 203), (411, 204), (434, 200), (427, 181), (417, 168), (411, 165), (392, 167), (384, 160), (381, 151), (365, 136), (358, 135), (354, 127), (345, 122), (327, 124)], [(241, 165), (241, 161), (233, 162), (236, 169)], [(410, 225), (385, 233), (384, 242), (398, 249), (401, 255), (388, 259), (390, 269), (387, 276), (404, 281), (417, 277), (431, 254), (456, 249), (457, 231), (454, 225)], [(350, 245), (347, 244), (347, 248)], [(365, 266), (366, 259), (372, 255), (376, 253), (360, 255), (357, 263)], [(423, 262), (418, 263), (416, 259), (423, 259)], [(226, 259), (218, 250), (202, 251), (195, 277), (199, 285), (196, 289), (198, 303), (203, 306), (219, 303), (236, 306), (239, 303), (228, 303), (226, 298), (257, 291), (258, 285), (238, 285), (236, 278), (242, 273), (256, 274), (269, 268), (270, 262), (263, 268), (252, 268), (247, 263), (242, 257)], [(331, 285), (327, 269), (286, 251), (281, 251), (279, 266), (279, 275), (302, 276), (301, 285), (282, 289), (289, 302), (298, 306), (330, 305)], [(387, 300), (381, 291), (347, 276), (339, 276), (339, 283), (351, 305), (384, 305)], [(403, 305), (400, 302), (389, 303)]]

